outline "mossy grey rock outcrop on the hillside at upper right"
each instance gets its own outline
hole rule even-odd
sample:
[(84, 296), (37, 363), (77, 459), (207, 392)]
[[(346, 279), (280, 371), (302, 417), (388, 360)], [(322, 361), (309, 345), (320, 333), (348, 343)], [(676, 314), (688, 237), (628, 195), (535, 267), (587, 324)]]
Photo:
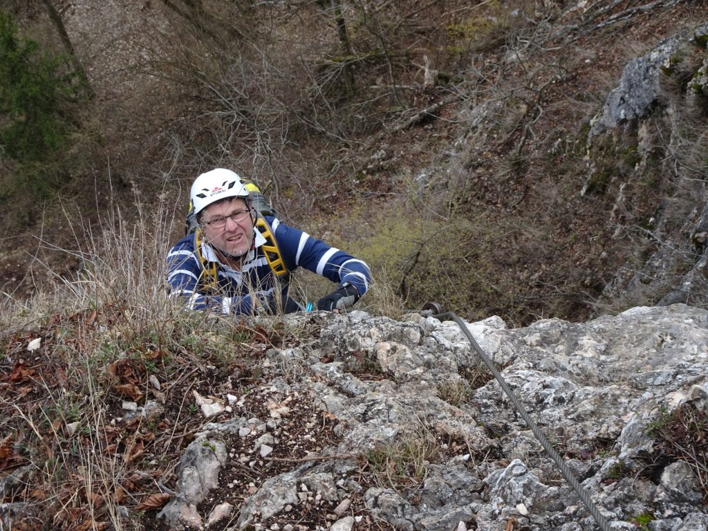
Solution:
[[(645, 248), (607, 282), (607, 297), (662, 306), (708, 300), (707, 42), (704, 23), (632, 59), (590, 122), (581, 195), (617, 190), (615, 238)], [(631, 196), (656, 205), (639, 212)]]

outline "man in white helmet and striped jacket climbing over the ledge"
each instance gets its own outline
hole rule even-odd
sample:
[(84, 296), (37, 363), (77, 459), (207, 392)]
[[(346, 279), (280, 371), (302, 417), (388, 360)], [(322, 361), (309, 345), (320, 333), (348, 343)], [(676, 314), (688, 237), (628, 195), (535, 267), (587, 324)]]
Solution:
[(249, 187), (234, 171), (202, 173), (191, 189), (197, 229), (167, 255), (172, 297), (186, 307), (224, 314), (302, 310), (288, 296), (287, 277), (302, 267), (338, 283), (317, 309), (352, 306), (369, 287), (368, 266), (324, 241), (253, 208)]

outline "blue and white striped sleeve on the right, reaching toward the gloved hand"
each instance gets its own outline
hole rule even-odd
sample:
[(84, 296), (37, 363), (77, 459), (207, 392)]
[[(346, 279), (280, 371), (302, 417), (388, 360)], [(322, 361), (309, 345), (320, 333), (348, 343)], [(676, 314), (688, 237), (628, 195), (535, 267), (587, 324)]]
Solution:
[(281, 223), (277, 218), (269, 218), (268, 222), (273, 227), (278, 249), (288, 270), (301, 267), (338, 284), (351, 282), (360, 297), (367, 292), (371, 272), (366, 263), (313, 238), (307, 232)]

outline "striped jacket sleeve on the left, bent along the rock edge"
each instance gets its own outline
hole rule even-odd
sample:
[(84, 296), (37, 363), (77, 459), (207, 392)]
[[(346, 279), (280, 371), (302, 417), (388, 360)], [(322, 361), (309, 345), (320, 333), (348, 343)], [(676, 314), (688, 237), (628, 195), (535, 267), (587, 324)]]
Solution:
[(181, 240), (167, 254), (167, 290), (170, 297), (180, 297), (185, 309), (208, 310), (220, 314), (251, 314), (251, 295), (222, 297), (207, 295), (199, 289), (202, 265), (188, 241)]

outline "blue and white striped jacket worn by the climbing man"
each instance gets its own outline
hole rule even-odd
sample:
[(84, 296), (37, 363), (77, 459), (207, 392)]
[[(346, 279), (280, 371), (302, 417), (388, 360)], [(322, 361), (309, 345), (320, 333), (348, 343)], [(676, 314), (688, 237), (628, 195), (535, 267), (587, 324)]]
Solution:
[[(364, 262), (306, 232), (288, 227), (275, 217), (265, 216), (265, 220), (278, 241), (278, 249), (288, 271), (302, 267), (338, 284), (351, 282), (360, 296), (368, 290), (371, 273)], [(178, 241), (167, 255), (167, 282), (171, 297), (183, 297), (188, 309), (253, 314), (258, 307), (254, 297), (263, 302), (277, 290), (287, 295), (287, 285), (278, 282), (265, 259), (262, 249), (265, 238), (255, 227), (253, 233), (253, 249), (241, 263), (240, 271), (220, 262), (214, 249), (205, 242), (201, 243), (202, 256), (217, 264), (218, 289), (215, 292), (205, 290), (202, 283), (202, 275), (206, 273), (195, 250), (196, 234), (189, 234)]]

